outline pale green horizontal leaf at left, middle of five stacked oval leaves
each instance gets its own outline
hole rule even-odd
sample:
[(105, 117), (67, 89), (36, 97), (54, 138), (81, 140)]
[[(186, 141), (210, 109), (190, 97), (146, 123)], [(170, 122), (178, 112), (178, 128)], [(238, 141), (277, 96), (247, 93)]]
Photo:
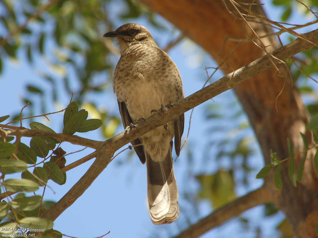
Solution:
[(4, 180), (2, 185), (5, 186), (7, 190), (10, 192), (34, 192), (39, 189), (39, 186), (37, 183), (29, 180), (29, 179), (16, 179), (16, 178), (10, 178), (7, 180)]

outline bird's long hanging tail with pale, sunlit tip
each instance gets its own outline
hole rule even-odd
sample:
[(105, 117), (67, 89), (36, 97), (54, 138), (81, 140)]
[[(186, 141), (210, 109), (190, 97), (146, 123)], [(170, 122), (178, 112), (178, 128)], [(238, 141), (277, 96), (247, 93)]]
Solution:
[(154, 162), (146, 153), (148, 203), (151, 221), (169, 224), (179, 216), (179, 192), (173, 171), (171, 147), (166, 158)]

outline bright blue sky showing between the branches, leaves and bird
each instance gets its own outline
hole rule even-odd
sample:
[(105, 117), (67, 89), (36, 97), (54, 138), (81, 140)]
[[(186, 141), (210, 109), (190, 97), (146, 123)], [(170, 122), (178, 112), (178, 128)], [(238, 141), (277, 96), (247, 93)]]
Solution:
[[(270, 1), (268, 1), (270, 2)], [(273, 20), (280, 20), (279, 16), (281, 14), (281, 9), (279, 7), (272, 6), (267, 3), (264, 6), (267, 13), (270, 13), (270, 18)], [(110, 5), (110, 9), (120, 10), (118, 5)], [(111, 12), (111, 11), (110, 11)], [(291, 21), (300, 24), (301, 21), (307, 22), (309, 19), (300, 18), (299, 15), (294, 12)], [(115, 16), (116, 14), (114, 14)], [(114, 17), (110, 15), (110, 17)], [(157, 17), (162, 23), (167, 24), (169, 27), (173, 27), (171, 24), (167, 23), (162, 17)], [(117, 20), (118, 21), (118, 20)], [(142, 24), (146, 26), (152, 33), (154, 39), (158, 45), (163, 48), (166, 46), (171, 39), (171, 32), (158, 32), (153, 26), (151, 26), (146, 19), (140, 18), (134, 20), (135, 23)], [(124, 24), (125, 22), (119, 22), (118, 25)], [(116, 27), (117, 27), (116, 26)], [(317, 28), (312, 26), (312, 29)], [(308, 31), (307, 29), (304, 30)], [(105, 33), (105, 32), (100, 32)], [(178, 33), (172, 34), (173, 37), (177, 37)], [(45, 45), (46, 51), (50, 52), (53, 43), (48, 41)], [(215, 67), (216, 63), (211, 59), (210, 56), (206, 55), (203, 50), (195, 46), (190, 40), (185, 39), (180, 44), (175, 46), (169, 51), (169, 55), (176, 63), (181, 76), (183, 79), (183, 87), (185, 95), (190, 95), (197, 90), (201, 89), (205, 80), (206, 73), (204, 67)], [(44, 63), (45, 60), (40, 55), (36, 57), (36, 67), (30, 67), (27, 63), (25, 52), (20, 50), (18, 53), (18, 61), (13, 61), (10, 59), (3, 59), (5, 61), (3, 66), (3, 72), (0, 78), (0, 88), (2, 92), (0, 94), (0, 101), (7, 102), (2, 105), (1, 115), (8, 115), (16, 112), (24, 105), (21, 102), (21, 98), (26, 94), (25, 84), (32, 82), (32, 84), (38, 85), (38, 87), (43, 88), (50, 92), (51, 85), (43, 81), (39, 76), (38, 72), (41, 70), (50, 70)], [(117, 62), (118, 57), (113, 56), (114, 63)], [(218, 72), (212, 78), (215, 81), (222, 77), (222, 73)], [(103, 80), (103, 79), (99, 79)], [(109, 80), (105, 78), (104, 80)], [(62, 89), (62, 79), (59, 79), (58, 87)], [(76, 88), (75, 84), (72, 87)], [(109, 87), (111, 87), (109, 85)], [(56, 111), (59, 108), (66, 107), (70, 95), (62, 91), (59, 94), (62, 105), (53, 105), (48, 103), (48, 110)], [(46, 95), (47, 101), (51, 101), (52, 95)], [(95, 101), (100, 108), (107, 109), (109, 113), (113, 113), (119, 116), (116, 97), (112, 90), (109, 90), (102, 94), (88, 94), (85, 98), (87, 101)], [(205, 119), (206, 108), (209, 104), (219, 103), (220, 105), (227, 105), (229, 101), (235, 100), (235, 95), (232, 90), (227, 91), (223, 94), (218, 95), (213, 98), (215, 102), (210, 100), (195, 108), (190, 135), (186, 143), (185, 148), (181, 151), (180, 157), (175, 163), (175, 173), (176, 179), (179, 187), (180, 194), (189, 191), (198, 191), (199, 184), (194, 178), (184, 179), (184, 174), (187, 173), (190, 162), (184, 161), (183, 158), (187, 157), (187, 149), (193, 150), (193, 157), (195, 161), (191, 166), (193, 173), (211, 173), (218, 169), (218, 164), (209, 164), (209, 167), (205, 167), (202, 163), (196, 163), (202, 161), (204, 154), (204, 147), (206, 146), (206, 141), (208, 141), (209, 133), (208, 129), (211, 126), (210, 122)], [(40, 102), (36, 102), (35, 108), (40, 108)], [(220, 112), (224, 115), (230, 115), (231, 110), (227, 108), (222, 108)], [(40, 110), (38, 110), (40, 114)], [(0, 115), (0, 116), (1, 116)], [(183, 139), (185, 138), (188, 125), (189, 125), (190, 112), (185, 114), (185, 133)], [(61, 125), (63, 121), (62, 114), (52, 115), (49, 117), (50, 122), (47, 122), (43, 118), (39, 118), (37, 121), (42, 123), (48, 123), (52, 129), (56, 132), (61, 131)], [(240, 118), (242, 122), (246, 121), (246, 116)], [(226, 125), (226, 123), (225, 123)], [(28, 125), (24, 125), (28, 126)], [(229, 126), (229, 128), (231, 128)], [(122, 127), (118, 128), (118, 133), (123, 130)], [(80, 134), (79, 136), (84, 136), (90, 139), (103, 140), (99, 131), (94, 131), (91, 133)], [(218, 134), (213, 134), (218, 135)], [(220, 135), (221, 137), (235, 137), (236, 135)], [(252, 129), (246, 131), (246, 136), (253, 138)], [(28, 142), (26, 142), (27, 144)], [(81, 149), (79, 146), (74, 146), (69, 143), (63, 143), (62, 148), (68, 153)], [(126, 147), (124, 147), (126, 148)], [(255, 168), (254, 174), (249, 178), (252, 182), (250, 187), (246, 189), (243, 186), (238, 186), (236, 192), (238, 196), (244, 195), (246, 192), (258, 188), (261, 184), (261, 180), (256, 180), (255, 175), (259, 169), (264, 165), (262, 161), (262, 156), (257, 143), (253, 143), (253, 149), (256, 153), (252, 158), (249, 159), (249, 164), (251, 167)], [(83, 152), (76, 153), (67, 157), (67, 163), (72, 163), (73, 161), (87, 155), (90, 153), (90, 149), (86, 149)], [(119, 152), (119, 151), (118, 151)], [(182, 196), (179, 199), (179, 204), (181, 207), (180, 222), (175, 222), (170, 225), (164, 226), (154, 226), (150, 219), (147, 210), (147, 184), (146, 184), (146, 167), (143, 166), (136, 156), (131, 160), (126, 160), (128, 157), (127, 151), (121, 153), (112, 163), (110, 163), (107, 168), (100, 174), (100, 176), (93, 182), (93, 184), (86, 190), (86, 192), (78, 199), (76, 202), (66, 209), (59, 218), (54, 222), (54, 228), (59, 230), (66, 235), (76, 236), (76, 237), (96, 237), (102, 234), (106, 234), (111, 231), (107, 237), (168, 237), (171, 235), (177, 235), (181, 230), (186, 228), (186, 219), (183, 214), (182, 207), (188, 207), (186, 199)], [(124, 161), (124, 165), (118, 165), (118, 161)], [(78, 179), (85, 173), (87, 168), (91, 165), (92, 161), (82, 164), (79, 167), (74, 168), (67, 172), (67, 182), (65, 185), (60, 186), (53, 182), (50, 183), (51, 189), (46, 189), (45, 199), (58, 201), (72, 186), (78, 181)], [(227, 166), (226, 162), (223, 164), (224, 167)], [(263, 237), (271, 237), (272, 235), (277, 235), (273, 232), (274, 227), (277, 222), (283, 218), (282, 214), (276, 216), (275, 220), (266, 219), (264, 221), (259, 220), (260, 214), (262, 214), (262, 207), (256, 207), (250, 211), (244, 213), (245, 217), (251, 219), (250, 225), (252, 227), (257, 227), (262, 223), (262, 235)], [(204, 217), (211, 213), (210, 203), (207, 201), (202, 201), (198, 205), (199, 213), (194, 215), (190, 219), (191, 223), (195, 223), (200, 217)], [(230, 229), (229, 229), (230, 228)], [(251, 229), (253, 230), (253, 229)], [(202, 237), (254, 237), (255, 233), (243, 233), (239, 221), (232, 220), (228, 221), (225, 226), (221, 226), (213, 229), (212, 231), (206, 233)]]

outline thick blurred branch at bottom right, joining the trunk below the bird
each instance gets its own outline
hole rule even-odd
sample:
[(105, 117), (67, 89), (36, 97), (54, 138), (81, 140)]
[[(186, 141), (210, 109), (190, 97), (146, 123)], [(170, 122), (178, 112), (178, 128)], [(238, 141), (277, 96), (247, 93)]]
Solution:
[(262, 186), (212, 212), (174, 238), (198, 237), (208, 230), (221, 225), (223, 222), (238, 216), (242, 212), (268, 202), (270, 202), (270, 192), (267, 191), (266, 186)]

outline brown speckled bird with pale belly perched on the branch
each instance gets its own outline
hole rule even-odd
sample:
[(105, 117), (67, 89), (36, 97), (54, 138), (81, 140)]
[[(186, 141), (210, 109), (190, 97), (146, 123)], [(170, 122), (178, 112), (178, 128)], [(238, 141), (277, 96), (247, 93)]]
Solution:
[[(157, 46), (146, 27), (127, 23), (104, 37), (116, 39), (120, 48), (113, 86), (124, 128), (183, 99), (176, 64)], [(146, 162), (149, 212), (156, 225), (169, 224), (179, 216), (172, 139), (179, 156), (183, 129), (181, 114), (131, 142), (142, 164)]]

